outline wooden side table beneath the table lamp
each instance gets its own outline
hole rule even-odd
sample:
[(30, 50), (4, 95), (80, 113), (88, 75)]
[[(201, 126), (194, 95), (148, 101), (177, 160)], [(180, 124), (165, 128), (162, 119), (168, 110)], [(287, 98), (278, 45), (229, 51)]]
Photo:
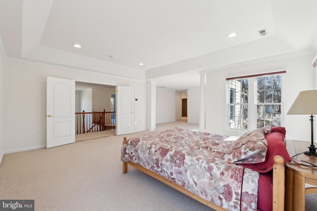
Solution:
[[(310, 142), (287, 140), (286, 148), (292, 157), (308, 151)], [(317, 165), (317, 157), (300, 154), (295, 158)], [(307, 163), (303, 163), (309, 165)], [(285, 165), (285, 211), (305, 211), (305, 195), (317, 193), (317, 188), (306, 188), (306, 184), (317, 186), (317, 167), (307, 167), (294, 162)]]

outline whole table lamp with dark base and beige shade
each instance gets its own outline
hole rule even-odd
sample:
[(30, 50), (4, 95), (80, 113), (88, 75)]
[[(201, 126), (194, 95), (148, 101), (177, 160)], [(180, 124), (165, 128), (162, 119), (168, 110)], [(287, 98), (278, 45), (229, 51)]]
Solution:
[(309, 146), (309, 151), (304, 152), (306, 155), (317, 156), (316, 147), (314, 145), (313, 132), (313, 114), (317, 114), (317, 90), (301, 91), (296, 97), (293, 105), (288, 110), (287, 114), (308, 114), (311, 121), (312, 143)]

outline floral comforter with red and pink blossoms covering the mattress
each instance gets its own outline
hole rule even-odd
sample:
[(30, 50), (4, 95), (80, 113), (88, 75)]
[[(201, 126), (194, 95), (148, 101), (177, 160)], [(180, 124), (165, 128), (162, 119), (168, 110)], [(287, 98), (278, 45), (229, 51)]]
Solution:
[(167, 129), (127, 140), (121, 161), (150, 169), (230, 211), (256, 211), (259, 173), (220, 158), (229, 136)]

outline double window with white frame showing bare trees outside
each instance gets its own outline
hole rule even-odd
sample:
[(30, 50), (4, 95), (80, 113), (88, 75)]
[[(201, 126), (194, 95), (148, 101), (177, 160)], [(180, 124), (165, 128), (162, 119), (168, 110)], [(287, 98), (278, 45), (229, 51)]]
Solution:
[(227, 128), (247, 130), (271, 124), (281, 126), (281, 75), (227, 79), (227, 85)]

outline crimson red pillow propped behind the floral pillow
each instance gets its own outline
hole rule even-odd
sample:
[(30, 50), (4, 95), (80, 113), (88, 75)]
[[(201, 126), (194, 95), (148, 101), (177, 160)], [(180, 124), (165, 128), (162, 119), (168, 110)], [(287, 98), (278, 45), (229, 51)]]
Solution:
[[(273, 127), (272, 127), (273, 128)], [(285, 134), (281, 132), (271, 132), (265, 135), (267, 141), (267, 151), (265, 155), (265, 161), (258, 164), (237, 164), (248, 169), (258, 171), (260, 173), (267, 172), (273, 169), (274, 156), (279, 155), (284, 158), (284, 162), (291, 162), (291, 157), (289, 156), (286, 145), (284, 144)]]

